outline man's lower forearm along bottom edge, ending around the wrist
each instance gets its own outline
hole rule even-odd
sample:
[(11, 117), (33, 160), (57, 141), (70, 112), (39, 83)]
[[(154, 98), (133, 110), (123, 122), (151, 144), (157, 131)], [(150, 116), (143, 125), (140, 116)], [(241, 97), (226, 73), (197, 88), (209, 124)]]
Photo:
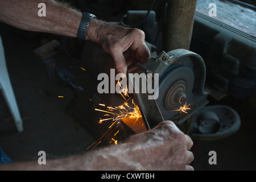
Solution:
[(139, 163), (131, 160), (131, 146), (128, 143), (119, 146), (106, 147), (104, 149), (88, 152), (85, 155), (71, 158), (47, 160), (46, 165), (39, 165), (38, 162), (22, 162), (0, 166), (2, 170), (131, 170), (141, 169)]

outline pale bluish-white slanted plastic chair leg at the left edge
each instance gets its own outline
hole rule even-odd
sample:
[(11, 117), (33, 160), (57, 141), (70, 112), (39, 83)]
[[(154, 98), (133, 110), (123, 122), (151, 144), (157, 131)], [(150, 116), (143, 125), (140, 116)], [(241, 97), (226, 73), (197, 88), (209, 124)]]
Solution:
[[(23, 131), (23, 123), (19, 114), (18, 105), (11, 86), (11, 81), (6, 67), (5, 52), (3, 51), (2, 39), (0, 36), (0, 89), (2, 90), (3, 97), (9, 106), (11, 115), (13, 116), (16, 128), (19, 132)], [(1, 122), (1, 121), (0, 121)]]

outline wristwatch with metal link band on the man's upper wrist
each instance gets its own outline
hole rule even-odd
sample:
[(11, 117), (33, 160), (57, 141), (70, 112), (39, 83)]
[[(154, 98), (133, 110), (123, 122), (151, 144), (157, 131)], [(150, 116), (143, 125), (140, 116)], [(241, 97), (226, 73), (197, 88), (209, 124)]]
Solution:
[(89, 27), (89, 23), (90, 23), (90, 20), (93, 18), (97, 18), (97, 17), (95, 15), (87, 13), (87, 12), (82, 14), (82, 19), (81, 19), (79, 31), (77, 34), (78, 38), (80, 38), (82, 40), (86, 40), (86, 34), (87, 34), (88, 27)]

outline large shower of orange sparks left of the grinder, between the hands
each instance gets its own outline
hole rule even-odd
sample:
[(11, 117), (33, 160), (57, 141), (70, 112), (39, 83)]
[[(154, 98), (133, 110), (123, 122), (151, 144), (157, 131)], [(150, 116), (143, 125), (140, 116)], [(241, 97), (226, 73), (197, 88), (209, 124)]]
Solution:
[[(103, 142), (107, 138), (109, 138), (109, 136), (114, 131), (115, 131), (115, 133), (112, 134), (112, 135), (114, 135), (113, 137), (115, 137), (119, 133), (119, 130), (117, 131), (116, 129), (118, 129), (121, 119), (132, 118), (133, 119), (132, 121), (135, 124), (139, 118), (142, 118), (141, 111), (139, 110), (139, 107), (135, 104), (134, 100), (131, 99), (131, 97), (129, 97), (127, 86), (126, 86), (126, 88), (122, 88), (119, 81), (117, 82), (117, 84), (121, 88), (120, 94), (125, 101), (124, 101), (123, 105), (121, 105), (121, 106), (112, 107), (112, 106), (106, 106), (105, 104), (99, 104), (99, 106), (101, 108), (104, 107), (104, 109), (97, 109), (97, 108), (95, 109), (96, 111), (105, 113), (105, 115), (104, 115), (105, 118), (100, 118), (100, 121), (98, 123), (102, 124), (102, 122), (110, 122), (110, 126), (109, 126), (108, 131), (106, 131), (106, 133), (104, 135), (102, 135), (101, 138), (99, 138), (96, 142), (94, 142), (91, 146), (88, 147), (88, 148), (90, 148), (90, 147), (94, 146), (92, 148), (92, 151), (98, 144), (100, 144), (101, 142)], [(142, 123), (142, 125), (143, 125), (143, 123)], [(112, 141), (110, 143), (113, 142), (114, 144), (118, 144), (117, 139), (112, 138), (111, 140)]]

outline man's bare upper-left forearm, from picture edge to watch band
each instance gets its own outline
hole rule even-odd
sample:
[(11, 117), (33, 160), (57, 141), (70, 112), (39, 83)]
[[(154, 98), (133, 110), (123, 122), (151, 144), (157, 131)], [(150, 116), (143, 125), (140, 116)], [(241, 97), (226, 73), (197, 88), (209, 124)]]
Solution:
[[(77, 36), (82, 13), (53, 0), (0, 0), (0, 20), (28, 31)], [(46, 4), (46, 16), (38, 15), (39, 3)]]

